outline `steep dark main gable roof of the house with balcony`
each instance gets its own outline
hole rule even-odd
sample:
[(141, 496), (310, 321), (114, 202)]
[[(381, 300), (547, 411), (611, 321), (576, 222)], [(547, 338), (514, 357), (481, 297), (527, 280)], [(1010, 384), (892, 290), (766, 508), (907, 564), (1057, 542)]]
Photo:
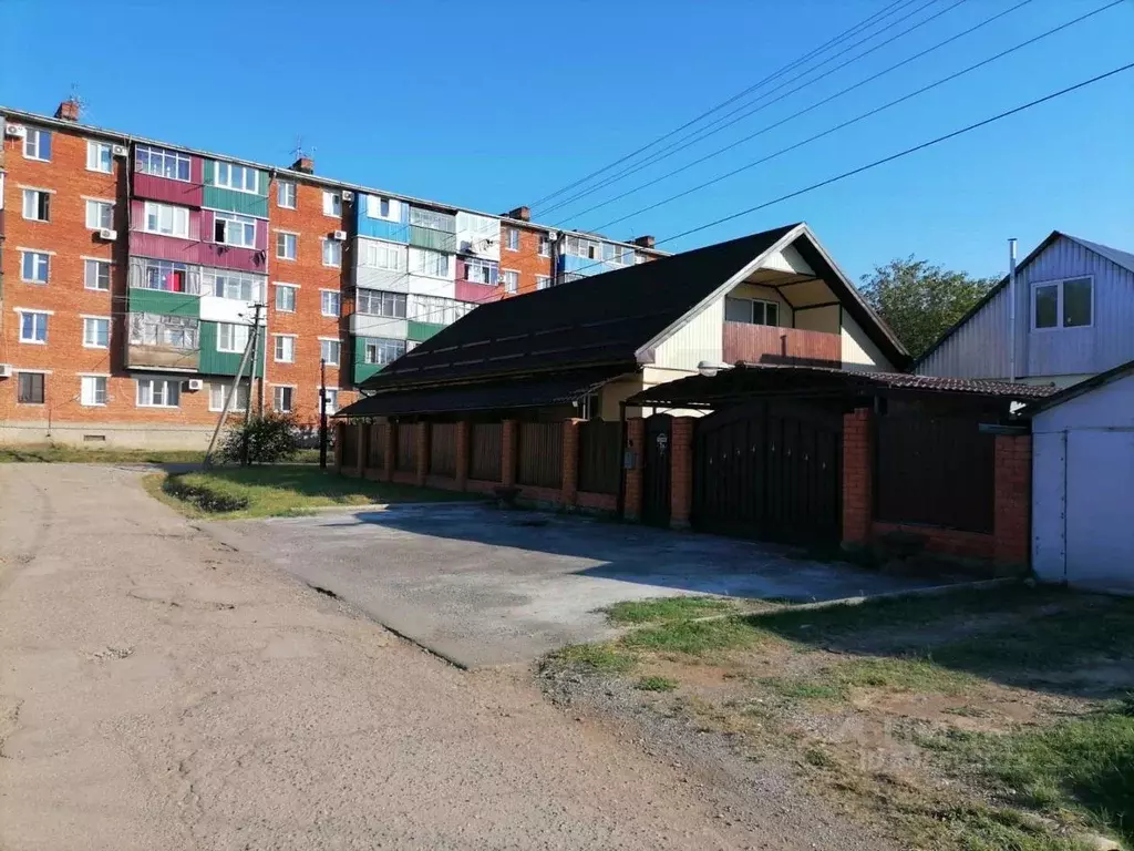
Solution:
[(899, 363), (908, 359), (806, 225), (797, 224), (481, 305), (362, 387), (381, 393), (593, 365), (636, 369), (638, 349), (789, 243), (822, 270), (823, 280), (888, 356)]

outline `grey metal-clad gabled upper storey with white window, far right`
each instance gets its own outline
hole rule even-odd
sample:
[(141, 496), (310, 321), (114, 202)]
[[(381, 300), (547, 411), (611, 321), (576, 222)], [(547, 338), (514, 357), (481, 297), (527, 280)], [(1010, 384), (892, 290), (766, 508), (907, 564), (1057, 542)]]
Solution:
[(1052, 230), (912, 371), (1066, 387), (1134, 359), (1132, 328), (1134, 254)]

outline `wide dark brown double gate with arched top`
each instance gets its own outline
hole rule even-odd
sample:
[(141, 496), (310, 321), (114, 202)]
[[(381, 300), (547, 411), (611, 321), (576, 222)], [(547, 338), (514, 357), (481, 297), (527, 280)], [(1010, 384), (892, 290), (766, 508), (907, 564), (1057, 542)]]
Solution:
[(768, 401), (697, 421), (694, 528), (787, 542), (841, 537), (843, 415)]

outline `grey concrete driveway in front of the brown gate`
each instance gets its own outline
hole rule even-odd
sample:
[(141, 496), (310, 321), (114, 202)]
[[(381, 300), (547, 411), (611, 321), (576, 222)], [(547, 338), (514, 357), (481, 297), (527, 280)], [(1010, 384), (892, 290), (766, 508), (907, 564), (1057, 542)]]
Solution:
[(770, 545), (480, 504), (204, 525), (469, 667), (610, 637), (596, 609), (619, 600), (703, 592), (802, 603), (937, 584)]

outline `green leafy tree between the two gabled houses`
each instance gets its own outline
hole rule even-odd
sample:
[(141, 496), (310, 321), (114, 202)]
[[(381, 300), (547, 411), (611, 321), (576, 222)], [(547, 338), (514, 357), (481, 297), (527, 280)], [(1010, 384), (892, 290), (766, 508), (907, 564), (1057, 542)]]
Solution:
[(862, 276), (860, 290), (909, 354), (919, 357), (996, 285), (997, 278), (972, 278), (932, 266), (928, 260), (891, 260)]

